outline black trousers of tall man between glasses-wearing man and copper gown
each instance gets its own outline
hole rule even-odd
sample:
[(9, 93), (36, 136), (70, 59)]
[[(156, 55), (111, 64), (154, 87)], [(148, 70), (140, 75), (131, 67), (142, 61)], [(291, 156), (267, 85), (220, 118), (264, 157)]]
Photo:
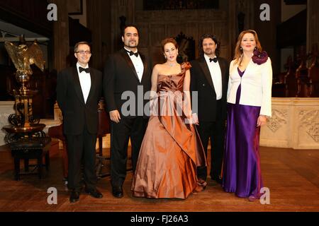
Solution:
[(122, 186), (125, 180), (129, 138), (132, 145), (133, 172), (135, 171), (147, 121), (148, 119), (143, 117), (122, 118), (118, 124), (111, 121), (112, 186)]

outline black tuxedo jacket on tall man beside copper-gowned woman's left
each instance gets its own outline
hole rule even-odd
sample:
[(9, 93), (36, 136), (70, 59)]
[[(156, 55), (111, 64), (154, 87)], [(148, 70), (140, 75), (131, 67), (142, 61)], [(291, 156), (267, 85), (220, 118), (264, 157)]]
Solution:
[[(106, 61), (103, 74), (103, 93), (108, 112), (118, 109), (121, 117), (135, 117), (136, 115), (141, 114), (145, 116), (144, 105), (148, 100), (138, 102), (138, 98), (142, 98), (140, 100), (143, 100), (145, 93), (150, 91), (152, 64), (150, 60), (146, 59), (142, 54), (140, 54), (140, 57), (144, 64), (141, 82), (138, 79), (138, 74), (135, 71), (128, 53), (124, 48), (115, 54), (112, 54)], [(140, 85), (140, 88), (143, 88), (143, 93), (138, 93), (138, 85)], [(135, 111), (133, 115), (123, 116), (123, 112), (121, 112), (123, 103), (128, 101), (121, 100), (121, 95), (125, 91), (130, 91), (135, 95), (135, 100), (133, 101), (133, 103), (135, 103)], [(140, 103), (140, 105), (138, 105), (138, 103)]]

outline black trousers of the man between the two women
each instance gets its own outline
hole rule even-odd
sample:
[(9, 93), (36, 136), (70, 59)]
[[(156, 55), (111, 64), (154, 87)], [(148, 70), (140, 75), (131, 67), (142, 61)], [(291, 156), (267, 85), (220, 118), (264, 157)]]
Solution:
[[(217, 180), (220, 177), (223, 164), (223, 153), (225, 145), (225, 120), (199, 121), (197, 126), (203, 148), (207, 156), (208, 141), (211, 139), (211, 179)], [(197, 168), (197, 177), (207, 179), (207, 167)]]

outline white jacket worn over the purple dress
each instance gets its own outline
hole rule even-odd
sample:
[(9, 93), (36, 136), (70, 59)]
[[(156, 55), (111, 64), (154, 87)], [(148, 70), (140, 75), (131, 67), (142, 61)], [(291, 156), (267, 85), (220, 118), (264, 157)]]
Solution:
[(240, 105), (260, 106), (260, 114), (272, 116), (272, 61), (254, 64), (252, 59), (240, 78), (235, 60), (230, 62), (227, 102), (235, 104), (238, 86), (241, 84)]

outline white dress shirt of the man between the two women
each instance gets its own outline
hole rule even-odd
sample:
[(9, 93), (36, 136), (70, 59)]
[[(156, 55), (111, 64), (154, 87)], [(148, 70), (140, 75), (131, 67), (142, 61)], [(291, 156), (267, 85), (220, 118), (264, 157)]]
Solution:
[(210, 62), (209, 57), (206, 54), (204, 54), (204, 57), (208, 65), (209, 73), (211, 73), (211, 80), (213, 81), (216, 92), (216, 100), (220, 100), (223, 95), (223, 85), (219, 63), (218, 61), (216, 63), (214, 61)]

